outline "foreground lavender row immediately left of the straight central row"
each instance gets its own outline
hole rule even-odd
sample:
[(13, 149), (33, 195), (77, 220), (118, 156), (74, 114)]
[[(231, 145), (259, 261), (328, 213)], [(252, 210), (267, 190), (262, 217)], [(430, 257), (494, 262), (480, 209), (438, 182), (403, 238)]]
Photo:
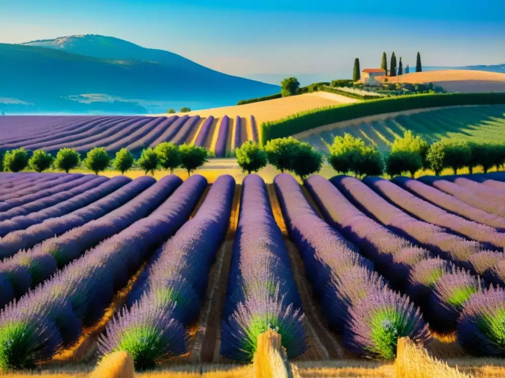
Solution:
[(233, 177), (220, 176), (196, 215), (163, 245), (136, 290), (139, 300), (100, 338), (101, 353), (129, 351), (136, 368), (144, 369), (187, 350), (184, 326), (198, 315), (228, 226), (234, 188)]

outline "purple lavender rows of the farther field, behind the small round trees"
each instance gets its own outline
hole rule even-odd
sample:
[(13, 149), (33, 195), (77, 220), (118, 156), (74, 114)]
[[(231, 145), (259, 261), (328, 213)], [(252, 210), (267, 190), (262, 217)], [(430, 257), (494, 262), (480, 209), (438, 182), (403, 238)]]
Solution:
[[(27, 119), (30, 118), (30, 119)], [(7, 116), (0, 119), (0, 149), (10, 150), (23, 147), (27, 150), (42, 149), (56, 153), (62, 148), (73, 148), (85, 153), (94, 147), (105, 147), (109, 153), (126, 148), (139, 153), (147, 147), (156, 147), (162, 142), (189, 143), (203, 147), (213, 130), (215, 119), (208, 117), (201, 127), (199, 115), (145, 117), (145, 116), (101, 116), (101, 117), (21, 117)], [(34, 124), (40, 125), (36, 128)], [(251, 116), (252, 140), (258, 141), (256, 122)], [(197, 133), (197, 134), (196, 134)], [(229, 118), (224, 116), (219, 125), (216, 155), (225, 156), (229, 130)], [(235, 120), (235, 147), (239, 147), (247, 135), (242, 135), (242, 121)]]

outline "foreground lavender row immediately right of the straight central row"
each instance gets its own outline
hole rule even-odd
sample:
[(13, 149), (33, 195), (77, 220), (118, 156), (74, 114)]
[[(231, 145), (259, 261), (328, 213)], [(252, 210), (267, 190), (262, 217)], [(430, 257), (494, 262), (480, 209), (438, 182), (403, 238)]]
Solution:
[(296, 180), (274, 179), (291, 239), (305, 263), (307, 278), (328, 324), (343, 333), (351, 351), (393, 359), (398, 337), (429, 341), (423, 316), (407, 297), (392, 291), (359, 249), (319, 218)]

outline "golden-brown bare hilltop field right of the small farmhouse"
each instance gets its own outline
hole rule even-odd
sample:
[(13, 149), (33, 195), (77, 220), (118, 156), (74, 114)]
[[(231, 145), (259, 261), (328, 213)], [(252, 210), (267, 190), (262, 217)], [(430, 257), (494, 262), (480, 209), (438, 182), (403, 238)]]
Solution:
[[(384, 80), (384, 78), (382, 79)], [(433, 83), (447, 92), (505, 92), (505, 74), (473, 70), (414, 72), (388, 77), (389, 83)]]

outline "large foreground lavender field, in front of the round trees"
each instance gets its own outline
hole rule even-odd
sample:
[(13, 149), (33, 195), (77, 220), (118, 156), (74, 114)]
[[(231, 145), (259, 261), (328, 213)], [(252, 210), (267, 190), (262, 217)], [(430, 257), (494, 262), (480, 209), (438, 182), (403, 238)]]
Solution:
[(0, 370), (248, 362), (267, 329), (293, 361), (503, 357), (503, 196), (501, 172), (0, 173)]

